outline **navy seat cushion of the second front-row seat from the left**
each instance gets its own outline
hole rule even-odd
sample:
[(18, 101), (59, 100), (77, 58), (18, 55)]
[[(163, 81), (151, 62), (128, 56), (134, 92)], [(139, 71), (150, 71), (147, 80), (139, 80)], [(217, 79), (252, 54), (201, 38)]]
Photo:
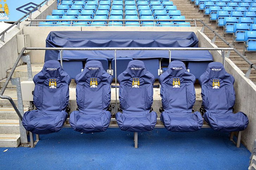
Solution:
[(82, 111), (73, 111), (70, 114), (70, 125), (77, 132), (93, 133), (107, 130), (111, 113), (104, 111), (101, 114), (86, 114)]

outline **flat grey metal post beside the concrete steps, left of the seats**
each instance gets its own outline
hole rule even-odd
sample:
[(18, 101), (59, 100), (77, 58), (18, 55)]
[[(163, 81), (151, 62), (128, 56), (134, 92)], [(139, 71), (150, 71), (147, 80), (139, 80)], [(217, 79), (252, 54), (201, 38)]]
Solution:
[[(18, 99), (18, 109), (21, 114), (21, 116), (24, 115), (24, 109), (23, 109), (23, 100), (22, 100), (22, 95), (21, 95), (21, 86), (20, 86), (20, 78), (12, 78), (11, 83), (13, 85), (16, 85), (17, 88), (17, 99)], [(22, 121), (19, 119), (19, 124), (20, 124), (20, 142), (21, 144), (26, 145), (28, 144), (27, 141), (27, 131), (22, 125)]]

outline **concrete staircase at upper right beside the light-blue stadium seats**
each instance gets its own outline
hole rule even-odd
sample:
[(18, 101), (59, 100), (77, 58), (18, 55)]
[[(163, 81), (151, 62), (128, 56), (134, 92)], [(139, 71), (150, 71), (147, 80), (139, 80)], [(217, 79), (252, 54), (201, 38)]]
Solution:
[[(199, 12), (198, 7), (194, 6), (193, 3), (190, 3), (190, 0), (172, 0), (172, 1), (173, 1), (173, 4), (177, 6), (177, 9), (181, 11), (181, 15), (184, 15), (186, 17), (186, 19), (200, 19), (200, 20), (204, 21), (205, 23), (207, 23), (208, 26), (210, 26), (213, 30), (215, 30), (217, 33), (219, 33), (219, 35), (221, 35), (223, 37), (223, 33), (224, 33), (223, 28), (218, 27), (217, 29), (215, 29), (215, 22), (211, 21), (211, 23), (209, 23), (209, 17), (204, 16), (203, 11)], [(200, 22), (197, 22), (197, 26), (203, 26), (203, 24), (201, 24)], [(207, 37), (209, 37), (210, 39), (212, 39), (213, 36), (215, 35), (207, 28), (204, 29), (204, 34)], [(223, 37), (223, 38), (226, 41), (228, 41), (230, 44), (232, 44), (232, 38), (233, 38), (232, 35), (226, 34), (225, 37)], [(218, 37), (216, 38), (215, 44), (218, 47), (224, 47), (224, 48), (229, 47)], [(235, 43), (233, 47), (235, 47), (239, 52), (241, 52), (241, 54), (243, 53), (243, 43)], [(245, 55), (251, 62), (256, 64), (256, 57), (255, 57), (254, 52), (246, 52)], [(245, 62), (240, 56), (238, 56), (236, 54), (236, 52), (232, 51), (230, 53), (229, 58), (244, 73), (247, 72), (247, 70), (249, 68), (249, 64), (247, 62)], [(254, 70), (254, 69), (251, 70), (251, 75), (249, 78), (251, 79), (252, 82), (254, 82), (256, 84), (256, 70)]]

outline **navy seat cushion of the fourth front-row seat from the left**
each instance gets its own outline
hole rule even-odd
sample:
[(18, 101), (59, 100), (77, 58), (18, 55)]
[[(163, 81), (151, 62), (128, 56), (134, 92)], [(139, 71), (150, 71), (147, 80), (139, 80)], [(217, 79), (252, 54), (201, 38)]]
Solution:
[(165, 128), (173, 132), (193, 132), (201, 129), (203, 118), (199, 112), (167, 113), (162, 112), (161, 121)]

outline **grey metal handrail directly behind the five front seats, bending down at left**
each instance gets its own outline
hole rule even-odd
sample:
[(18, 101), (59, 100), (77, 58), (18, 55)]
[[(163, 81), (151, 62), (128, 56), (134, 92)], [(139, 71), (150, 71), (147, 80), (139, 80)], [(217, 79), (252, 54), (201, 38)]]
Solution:
[[(11, 69), (11, 72), (9, 73), (8, 77), (6, 78), (6, 81), (5, 81), (5, 84), (3, 85), (2, 87), (2, 90), (0, 91), (0, 98), (1, 99), (7, 99), (11, 102), (15, 112), (18, 114), (20, 120), (22, 120), (22, 115), (20, 114), (17, 106), (15, 105), (13, 99), (9, 96), (5, 96), (3, 95), (4, 92), (5, 92), (5, 89), (9, 83), (9, 81), (11, 80), (12, 78), (12, 75), (15, 71), (15, 69), (17, 68), (17, 65), (21, 59), (21, 57), (23, 56), (23, 53), (25, 50), (60, 50), (60, 63), (62, 65), (62, 52), (63, 50), (114, 50), (115, 51), (115, 70), (116, 70), (116, 51), (117, 50), (168, 50), (169, 51), (169, 61), (171, 60), (171, 50), (221, 50), (222, 53), (224, 53), (223, 51), (226, 51), (226, 50), (233, 50), (234, 48), (153, 48), (153, 47), (148, 47), (148, 48), (133, 48), (133, 47), (121, 47), (121, 48), (108, 48), (108, 47), (104, 47), (104, 48), (33, 48), (33, 47), (30, 47), (30, 48), (26, 48), (24, 47), (21, 51), (20, 51), (20, 54), (19, 56), (17, 57), (12, 69)], [(223, 56), (224, 57), (224, 56)], [(116, 82), (116, 74), (115, 74), (115, 83)], [(116, 104), (117, 104), (117, 94), (116, 94)]]

